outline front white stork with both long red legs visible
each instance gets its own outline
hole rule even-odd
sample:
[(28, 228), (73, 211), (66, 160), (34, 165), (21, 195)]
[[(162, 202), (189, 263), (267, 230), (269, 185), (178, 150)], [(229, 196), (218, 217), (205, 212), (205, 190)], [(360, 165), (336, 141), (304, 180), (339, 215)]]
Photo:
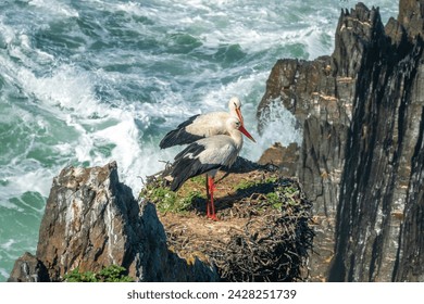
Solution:
[(254, 141), (237, 117), (228, 117), (225, 127), (227, 135), (211, 136), (190, 143), (175, 156), (171, 169), (172, 191), (177, 191), (191, 177), (207, 175), (207, 216), (213, 220), (217, 219), (213, 204), (217, 170), (223, 166), (230, 167), (236, 161), (242, 147), (241, 134)]

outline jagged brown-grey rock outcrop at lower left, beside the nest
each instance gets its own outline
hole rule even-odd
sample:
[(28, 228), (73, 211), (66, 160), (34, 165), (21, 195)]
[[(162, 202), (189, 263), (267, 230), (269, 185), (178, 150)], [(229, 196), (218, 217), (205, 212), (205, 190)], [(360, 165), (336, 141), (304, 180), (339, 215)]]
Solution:
[(137, 281), (216, 281), (213, 266), (169, 251), (155, 207), (137, 202), (121, 183), (116, 164), (67, 167), (53, 179), (37, 253), (17, 259), (9, 281), (61, 281), (79, 268), (110, 265)]

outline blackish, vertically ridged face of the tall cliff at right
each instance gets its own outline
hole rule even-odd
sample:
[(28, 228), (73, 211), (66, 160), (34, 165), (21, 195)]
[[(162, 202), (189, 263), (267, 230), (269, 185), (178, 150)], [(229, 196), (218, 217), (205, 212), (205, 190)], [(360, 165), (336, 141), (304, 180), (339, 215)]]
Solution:
[[(416, 163), (424, 131), (424, 43), (403, 34), (392, 45), (379, 20), (372, 30), (358, 73), (329, 278), (422, 281), (424, 236), (413, 230), (423, 231), (424, 219), (424, 163)], [(406, 267), (412, 269), (400, 274)]]

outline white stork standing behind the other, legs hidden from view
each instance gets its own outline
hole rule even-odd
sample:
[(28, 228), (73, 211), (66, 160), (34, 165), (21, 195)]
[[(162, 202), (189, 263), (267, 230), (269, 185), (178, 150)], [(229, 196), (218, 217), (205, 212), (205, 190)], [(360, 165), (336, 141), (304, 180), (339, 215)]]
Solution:
[(241, 115), (241, 102), (238, 98), (233, 97), (228, 101), (229, 112), (212, 112), (191, 116), (186, 122), (170, 131), (159, 143), (161, 149), (170, 148), (177, 144), (187, 144), (201, 138), (226, 134), (225, 122), (229, 117), (237, 117), (241, 125), (244, 118)]

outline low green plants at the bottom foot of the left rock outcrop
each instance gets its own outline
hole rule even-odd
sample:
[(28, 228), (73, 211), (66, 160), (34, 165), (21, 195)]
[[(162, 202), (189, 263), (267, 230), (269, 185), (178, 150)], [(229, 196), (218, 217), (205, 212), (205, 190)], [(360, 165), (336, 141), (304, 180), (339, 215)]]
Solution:
[(66, 282), (134, 282), (134, 279), (126, 276), (126, 269), (121, 266), (111, 265), (96, 274), (92, 271), (79, 273), (75, 268), (64, 276)]

